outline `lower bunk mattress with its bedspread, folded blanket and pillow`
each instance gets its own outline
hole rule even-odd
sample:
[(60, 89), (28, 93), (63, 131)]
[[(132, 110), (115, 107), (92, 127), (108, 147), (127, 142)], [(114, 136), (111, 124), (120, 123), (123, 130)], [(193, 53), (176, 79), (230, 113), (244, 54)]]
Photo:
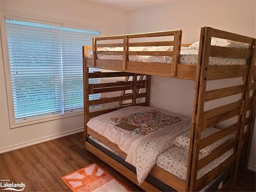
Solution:
[[(130, 134), (124, 133), (116, 129), (115, 125), (120, 122), (137, 125), (139, 129)], [(122, 154), (127, 154), (125, 161), (136, 167), (139, 183), (144, 181), (155, 165), (186, 181), (190, 125), (191, 122), (186, 117), (145, 106), (131, 106), (117, 110), (97, 116), (87, 123), (91, 130), (97, 132), (100, 137), (103, 136), (104, 141), (111, 141), (106, 143), (117, 144)], [(202, 138), (218, 131), (220, 130), (210, 127), (202, 132)], [(205, 147), (200, 151), (199, 159), (207, 156), (233, 137), (234, 135), (229, 135)], [(97, 141), (97, 137), (91, 137), (91, 139)], [(114, 149), (111, 146), (105, 147)], [(119, 153), (119, 155), (122, 154)], [(201, 168), (197, 179), (217, 167), (232, 154), (233, 148)]]

